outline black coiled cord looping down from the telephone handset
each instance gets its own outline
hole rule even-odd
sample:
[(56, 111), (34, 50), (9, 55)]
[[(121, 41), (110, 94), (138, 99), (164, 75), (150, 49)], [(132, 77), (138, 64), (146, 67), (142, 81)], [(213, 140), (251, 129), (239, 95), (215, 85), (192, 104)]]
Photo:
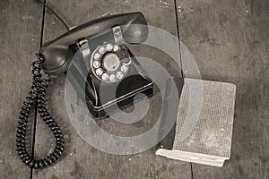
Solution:
[[(60, 127), (56, 124), (55, 120), (48, 113), (46, 107), (45, 95), (48, 89), (48, 83), (50, 81), (50, 76), (48, 73), (41, 73), (40, 63), (44, 61), (41, 55), (38, 55), (39, 60), (32, 63), (32, 85), (31, 90), (29, 91), (29, 96), (23, 102), (22, 109), (19, 116), (19, 122), (17, 127), (16, 135), (16, 148), (19, 157), (25, 163), (26, 166), (30, 168), (39, 169), (46, 166), (50, 166), (56, 162), (63, 154), (65, 148), (65, 139), (63, 132)], [(43, 76), (46, 76), (45, 78)], [(55, 149), (47, 157), (42, 159), (34, 159), (26, 150), (26, 129), (28, 118), (30, 115), (30, 108), (37, 107), (37, 110), (43, 119), (43, 121), (48, 124), (51, 132), (53, 133), (56, 141)]]

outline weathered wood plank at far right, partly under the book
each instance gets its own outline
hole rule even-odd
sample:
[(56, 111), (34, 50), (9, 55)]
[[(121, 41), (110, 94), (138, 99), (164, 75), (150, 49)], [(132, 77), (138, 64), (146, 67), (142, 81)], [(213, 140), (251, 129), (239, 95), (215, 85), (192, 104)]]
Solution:
[(231, 157), (193, 164), (194, 178), (268, 178), (269, 2), (178, 0), (181, 40), (203, 79), (236, 84)]

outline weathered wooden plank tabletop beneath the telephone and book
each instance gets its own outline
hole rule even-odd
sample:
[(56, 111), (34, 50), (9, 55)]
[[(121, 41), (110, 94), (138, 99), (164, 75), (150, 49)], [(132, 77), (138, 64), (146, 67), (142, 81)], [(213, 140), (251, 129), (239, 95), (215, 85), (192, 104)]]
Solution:
[[(63, 74), (51, 83), (48, 107), (65, 133), (64, 158), (43, 170), (24, 166), (16, 155), (14, 141), (19, 110), (30, 88), (30, 63), (35, 60), (40, 44), (64, 33), (65, 28), (36, 1), (10, 0), (0, 2), (1, 178), (269, 177), (269, 1), (47, 0), (47, 4), (70, 26), (105, 13), (139, 11), (150, 25), (175, 36), (179, 34), (194, 55), (203, 79), (237, 86), (231, 158), (223, 167), (213, 167), (156, 157), (154, 149), (132, 156), (116, 156), (94, 149), (79, 137), (68, 120)], [(156, 59), (169, 72), (180, 75), (169, 60), (164, 61), (167, 57), (161, 52), (148, 47), (134, 47), (134, 51)], [(149, 120), (157, 110), (158, 107), (152, 107)], [(111, 126), (113, 131), (108, 120), (100, 123)], [(139, 129), (141, 125), (133, 127)], [(34, 137), (35, 155), (47, 154), (53, 141), (39, 118)]]

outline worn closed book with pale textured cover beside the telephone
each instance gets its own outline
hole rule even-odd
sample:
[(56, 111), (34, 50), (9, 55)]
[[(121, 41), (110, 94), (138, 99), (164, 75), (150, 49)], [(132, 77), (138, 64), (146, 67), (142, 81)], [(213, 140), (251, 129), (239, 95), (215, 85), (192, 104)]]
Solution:
[(230, 158), (235, 107), (234, 84), (185, 79), (171, 147), (156, 155), (223, 166)]

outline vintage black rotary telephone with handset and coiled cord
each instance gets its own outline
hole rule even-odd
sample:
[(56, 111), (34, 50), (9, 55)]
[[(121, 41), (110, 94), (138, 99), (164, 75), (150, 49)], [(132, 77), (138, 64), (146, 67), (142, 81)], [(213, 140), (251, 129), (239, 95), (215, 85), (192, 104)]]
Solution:
[[(138, 93), (152, 96), (152, 80), (124, 45), (143, 43), (147, 36), (147, 21), (143, 13), (125, 13), (86, 22), (40, 47), (39, 61), (32, 64), (33, 83), (29, 97), (23, 103), (17, 127), (17, 152), (27, 166), (49, 166), (64, 151), (63, 133), (45, 104), (50, 74), (68, 70), (66, 77), (85, 98), (91, 115), (97, 119), (106, 117), (117, 107), (132, 104)], [(101, 84), (104, 84), (102, 90), (106, 93), (106, 98), (102, 99)], [(115, 96), (109, 91), (116, 87)], [(32, 106), (36, 107), (56, 139), (54, 151), (42, 159), (34, 159), (26, 151), (25, 133)]]

